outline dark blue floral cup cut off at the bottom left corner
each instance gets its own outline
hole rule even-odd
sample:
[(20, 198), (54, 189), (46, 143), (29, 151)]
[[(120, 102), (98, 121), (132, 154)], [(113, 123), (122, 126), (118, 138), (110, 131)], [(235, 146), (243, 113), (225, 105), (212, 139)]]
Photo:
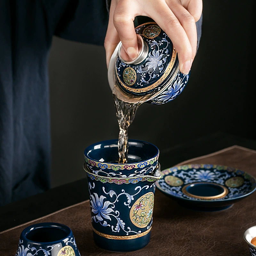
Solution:
[(60, 223), (37, 223), (25, 228), (15, 256), (80, 256), (74, 235)]

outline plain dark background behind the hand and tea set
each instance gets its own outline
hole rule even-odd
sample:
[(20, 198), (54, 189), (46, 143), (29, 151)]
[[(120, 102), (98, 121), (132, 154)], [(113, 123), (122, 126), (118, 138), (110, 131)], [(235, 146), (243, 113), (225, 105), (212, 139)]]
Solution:
[[(253, 0), (203, 1), (202, 37), (186, 89), (167, 104), (142, 104), (129, 138), (155, 144), (160, 156), (215, 132), (256, 139), (254, 10)], [(117, 138), (119, 130), (103, 46), (54, 37), (49, 77), (56, 187), (85, 178), (84, 148)]]

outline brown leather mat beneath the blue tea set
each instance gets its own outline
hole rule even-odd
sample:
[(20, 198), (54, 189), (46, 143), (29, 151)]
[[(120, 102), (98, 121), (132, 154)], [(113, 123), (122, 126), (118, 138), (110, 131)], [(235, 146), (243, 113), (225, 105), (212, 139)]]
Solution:
[[(232, 166), (256, 177), (256, 151), (237, 146), (206, 157), (188, 160), (182, 164), (188, 163)], [(108, 252), (94, 244), (90, 203), (85, 201), (0, 233), (0, 255), (15, 255), (23, 228), (32, 223), (49, 221), (63, 223), (73, 230), (81, 256), (245, 256), (249, 255), (249, 251), (243, 239), (243, 233), (247, 228), (256, 225), (255, 199), (256, 193), (253, 193), (227, 210), (196, 212), (179, 206), (170, 197), (156, 189), (151, 240), (143, 249), (125, 253)]]

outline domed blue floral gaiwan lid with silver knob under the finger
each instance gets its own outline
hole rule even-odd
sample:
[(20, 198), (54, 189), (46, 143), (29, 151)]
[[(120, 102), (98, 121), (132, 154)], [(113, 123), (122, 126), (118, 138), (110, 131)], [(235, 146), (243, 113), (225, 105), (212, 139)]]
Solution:
[(177, 73), (179, 60), (172, 41), (156, 24), (147, 22), (135, 28), (140, 35), (142, 50), (136, 60), (124, 61), (116, 56), (116, 82), (132, 95), (147, 95), (160, 91)]

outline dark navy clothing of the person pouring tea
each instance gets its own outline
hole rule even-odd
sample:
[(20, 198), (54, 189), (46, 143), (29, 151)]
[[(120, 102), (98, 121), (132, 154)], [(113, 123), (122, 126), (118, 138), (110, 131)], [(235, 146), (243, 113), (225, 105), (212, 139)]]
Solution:
[(104, 0), (0, 0), (0, 205), (50, 188), (52, 36), (101, 44)]

